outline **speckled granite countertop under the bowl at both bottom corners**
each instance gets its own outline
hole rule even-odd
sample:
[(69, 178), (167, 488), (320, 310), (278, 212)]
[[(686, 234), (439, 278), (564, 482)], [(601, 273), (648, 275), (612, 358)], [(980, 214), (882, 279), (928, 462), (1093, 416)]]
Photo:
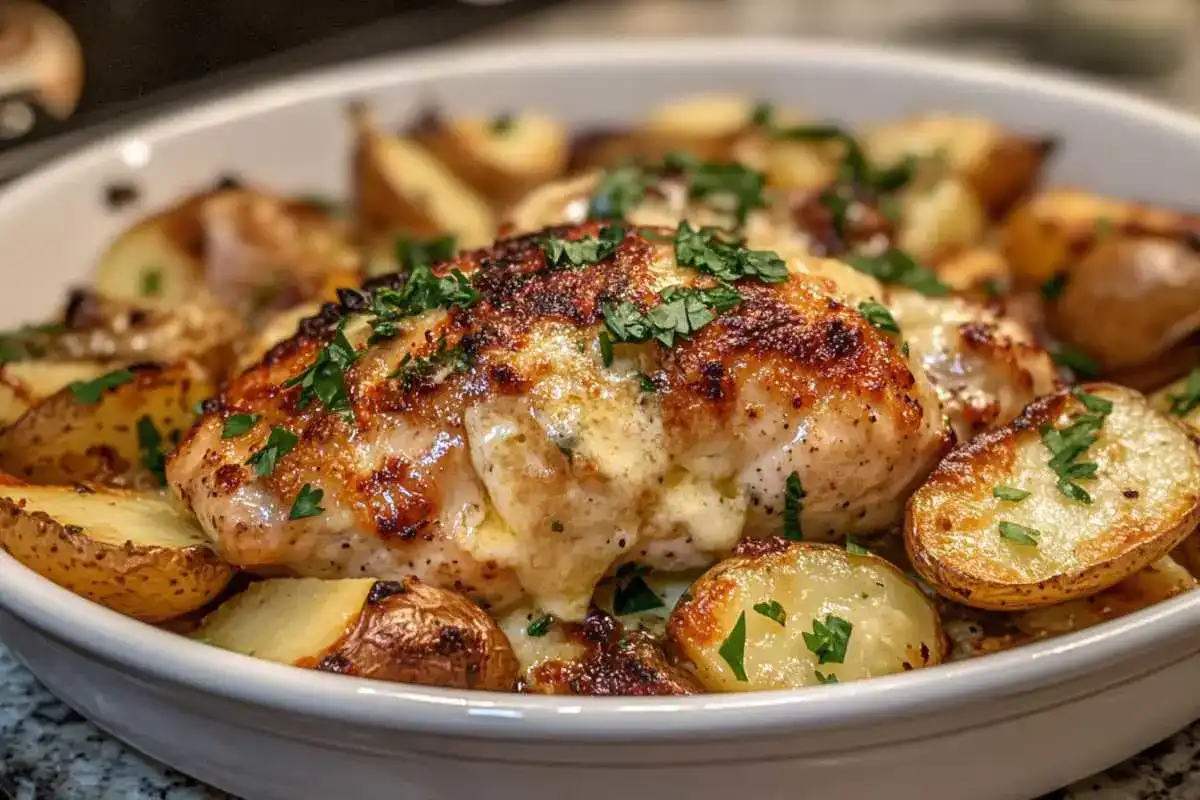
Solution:
[[(1040, 800), (1200, 800), (1200, 723)], [(0, 798), (235, 800), (151, 762), (59, 703), (0, 645)], [(349, 799), (347, 799), (349, 800)]]

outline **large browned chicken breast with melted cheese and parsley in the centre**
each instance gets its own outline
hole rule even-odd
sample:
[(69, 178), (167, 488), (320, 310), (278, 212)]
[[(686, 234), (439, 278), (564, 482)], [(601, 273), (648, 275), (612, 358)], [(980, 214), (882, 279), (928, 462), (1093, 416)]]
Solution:
[(682, 236), (552, 228), (343, 291), (169, 483), (230, 564), (560, 619), (617, 564), (706, 566), (785, 511), (814, 540), (895, 524), (952, 434), (874, 283)]

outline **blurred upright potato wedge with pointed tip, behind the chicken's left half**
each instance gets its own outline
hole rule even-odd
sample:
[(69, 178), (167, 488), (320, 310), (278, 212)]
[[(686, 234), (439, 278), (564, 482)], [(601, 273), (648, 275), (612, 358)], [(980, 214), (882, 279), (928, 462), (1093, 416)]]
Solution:
[(397, 233), (452, 234), (460, 247), (481, 247), (496, 235), (492, 210), (428, 150), (379, 131), (362, 106), (352, 109), (354, 209), (364, 241)]

